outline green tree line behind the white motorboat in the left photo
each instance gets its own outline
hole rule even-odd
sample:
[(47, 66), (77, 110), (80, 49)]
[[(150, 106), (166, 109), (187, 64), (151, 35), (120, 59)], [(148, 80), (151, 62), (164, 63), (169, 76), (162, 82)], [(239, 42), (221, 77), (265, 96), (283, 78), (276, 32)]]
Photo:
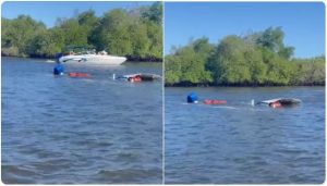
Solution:
[(1, 17), (1, 54), (55, 58), (68, 46), (124, 55), (133, 61), (162, 60), (162, 3), (132, 10), (114, 9), (97, 17), (94, 10), (58, 18), (47, 28), (28, 15)]

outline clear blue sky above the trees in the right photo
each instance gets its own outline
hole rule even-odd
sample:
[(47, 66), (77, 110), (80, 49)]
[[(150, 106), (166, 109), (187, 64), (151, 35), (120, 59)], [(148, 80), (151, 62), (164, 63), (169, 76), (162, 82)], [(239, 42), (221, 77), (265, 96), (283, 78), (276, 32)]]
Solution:
[(294, 57), (325, 54), (325, 5), (322, 2), (166, 2), (165, 53), (190, 39), (218, 44), (228, 35), (244, 36), (281, 26)]

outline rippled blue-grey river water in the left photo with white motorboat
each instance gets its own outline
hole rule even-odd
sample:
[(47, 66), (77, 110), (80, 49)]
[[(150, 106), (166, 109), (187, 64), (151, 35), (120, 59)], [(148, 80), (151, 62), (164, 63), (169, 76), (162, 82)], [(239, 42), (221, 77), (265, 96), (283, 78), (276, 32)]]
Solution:
[(53, 77), (55, 63), (2, 58), (2, 182), (160, 184), (162, 82), (112, 80), (161, 74), (161, 63), (85, 64)]

